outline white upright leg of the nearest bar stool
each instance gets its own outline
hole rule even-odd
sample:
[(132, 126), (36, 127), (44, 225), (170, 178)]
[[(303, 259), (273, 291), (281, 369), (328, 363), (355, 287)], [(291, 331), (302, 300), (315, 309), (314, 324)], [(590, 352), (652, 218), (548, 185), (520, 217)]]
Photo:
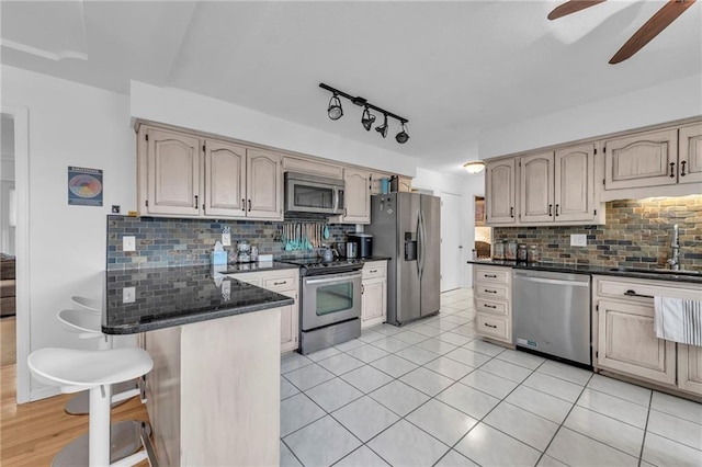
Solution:
[(110, 385), (90, 389), (90, 424), (88, 426), (88, 464), (90, 467), (110, 465)]

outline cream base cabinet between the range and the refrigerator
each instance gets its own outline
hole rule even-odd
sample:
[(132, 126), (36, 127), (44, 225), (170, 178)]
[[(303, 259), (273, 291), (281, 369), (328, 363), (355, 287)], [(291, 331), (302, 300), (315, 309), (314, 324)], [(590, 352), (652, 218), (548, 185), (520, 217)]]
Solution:
[(387, 319), (387, 261), (369, 261), (361, 278), (361, 328)]

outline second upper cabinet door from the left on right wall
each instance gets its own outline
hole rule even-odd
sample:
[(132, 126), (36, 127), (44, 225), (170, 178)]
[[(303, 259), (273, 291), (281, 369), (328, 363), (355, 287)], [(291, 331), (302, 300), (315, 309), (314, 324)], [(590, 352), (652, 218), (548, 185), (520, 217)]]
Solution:
[(522, 157), (519, 159), (519, 169), (520, 220), (553, 221), (553, 152)]

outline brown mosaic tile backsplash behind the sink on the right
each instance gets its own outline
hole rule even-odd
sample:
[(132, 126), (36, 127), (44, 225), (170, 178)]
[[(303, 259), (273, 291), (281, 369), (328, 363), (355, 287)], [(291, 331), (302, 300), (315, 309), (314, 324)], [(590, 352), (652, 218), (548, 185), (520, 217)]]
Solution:
[[(682, 269), (702, 270), (702, 195), (613, 201), (603, 226), (499, 227), (492, 238), (536, 244), (543, 262), (656, 269), (671, 254), (676, 224)], [(587, 247), (570, 247), (571, 234), (586, 234)]]

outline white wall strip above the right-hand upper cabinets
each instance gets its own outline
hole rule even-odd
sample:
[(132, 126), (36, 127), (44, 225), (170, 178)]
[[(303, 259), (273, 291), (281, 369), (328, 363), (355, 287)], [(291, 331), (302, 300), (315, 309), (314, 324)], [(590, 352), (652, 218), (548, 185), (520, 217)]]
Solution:
[(490, 128), (479, 137), (480, 159), (702, 115), (702, 76)]

